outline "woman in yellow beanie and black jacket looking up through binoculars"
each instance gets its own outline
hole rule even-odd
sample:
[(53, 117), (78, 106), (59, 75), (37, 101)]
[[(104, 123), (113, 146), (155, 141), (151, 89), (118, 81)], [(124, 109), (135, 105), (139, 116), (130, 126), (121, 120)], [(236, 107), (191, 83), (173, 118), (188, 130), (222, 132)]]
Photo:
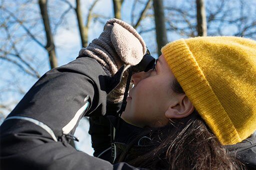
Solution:
[[(230, 156), (222, 145), (239, 143), (253, 133), (255, 130), (255, 124), (253, 124), (253, 121), (255, 121), (255, 108), (253, 110), (251, 105), (247, 106), (249, 109), (247, 108), (246, 110), (248, 111), (246, 119), (243, 119), (243, 117), (239, 116), (241, 114), (235, 112), (235, 116), (242, 122), (235, 124), (237, 119), (232, 117), (232, 119), (230, 118), (232, 120), (231, 124), (235, 125), (237, 132), (241, 128), (244, 133), (239, 133), (238, 136), (242, 136), (242, 138), (237, 138), (236, 134), (232, 134), (234, 131), (231, 129), (231, 135), (229, 135), (225, 130), (228, 131), (231, 125), (228, 124), (230, 121), (226, 117), (221, 117), (220, 121), (207, 117), (207, 113), (212, 113), (207, 112), (208, 110), (222, 113), (216, 110), (219, 109), (219, 104), (213, 103), (215, 98), (208, 101), (205, 98), (211, 99), (211, 95), (198, 95), (203, 92), (208, 95), (212, 91), (227, 91), (228, 89), (225, 88), (219, 88), (215, 91), (213, 88), (215, 86), (211, 86), (212, 83), (207, 82), (214, 80), (213, 82), (216, 81), (221, 84), (220, 80), (222, 79), (212, 79), (210, 76), (213, 76), (213, 78), (221, 77), (223, 72), (220, 75), (216, 75), (216, 72), (204, 72), (204, 69), (191, 71), (191, 68), (188, 68), (189, 71), (187, 71), (186, 67), (181, 67), (184, 64), (184, 66), (193, 65), (195, 68), (201, 68), (204, 61), (196, 58), (194, 54), (202, 53), (206, 55), (210, 53), (203, 53), (203, 50), (200, 51), (198, 49), (208, 47), (203, 43), (204, 41), (215, 42), (218, 39), (221, 40), (221, 37), (209, 38), (208, 40), (192, 39), (189, 48), (184, 44), (189, 44), (190, 40), (186, 40), (186, 42), (180, 40), (185, 42), (183, 46), (179, 46), (179, 43), (177, 46), (172, 46), (172, 43), (168, 44), (162, 49), (163, 55), (159, 57), (155, 69), (133, 75), (132, 82), (134, 87), (130, 89), (126, 110), (122, 114), (122, 119), (129, 124), (121, 119), (119, 129), (113, 129), (113, 150), (111, 152), (109, 149), (111, 142), (108, 137), (108, 129), (105, 128), (109, 124), (100, 115), (105, 113), (108, 115), (115, 114), (118, 111), (118, 103), (122, 99), (125, 85), (125, 79), (120, 80), (121, 75), (129, 66), (139, 63), (143, 54), (145, 54), (146, 47), (142, 38), (130, 25), (117, 19), (107, 21), (99, 38), (94, 39), (88, 47), (82, 49), (76, 60), (50, 70), (43, 75), (5, 119), (0, 129), (1, 169), (128, 170), (136, 169), (134, 167), (149, 169), (206, 169), (209, 167), (225, 169), (239, 167), (240, 164), (237, 159)], [(222, 41), (224, 40), (225, 38)], [(244, 60), (241, 59), (241, 55), (236, 57), (239, 58), (240, 62), (249, 64), (252, 68), (247, 67), (246, 70), (248, 72), (246, 71), (242, 74), (243, 79), (232, 82), (234, 83), (232, 89), (239, 89), (238, 91), (242, 94), (242, 99), (244, 100), (243, 103), (238, 104), (244, 104), (246, 103), (245, 101), (252, 100), (253, 95), (255, 96), (253, 90), (250, 89), (251, 93), (244, 93), (239, 88), (240, 84), (245, 84), (246, 88), (255, 87), (255, 81), (251, 79), (249, 74), (255, 74), (255, 60), (253, 60), (253, 57), (255, 57), (255, 52), (253, 52), (255, 50), (255, 42), (246, 39), (240, 40), (239, 38), (230, 38), (228, 40), (228, 42), (232, 41), (241, 41), (240, 43), (237, 42), (237, 44), (248, 43), (242, 43), (243, 46), (234, 45), (236, 48), (241, 46), (239, 49), (246, 49), (246, 51), (243, 50), (243, 52), (247, 52), (244, 55)], [(200, 45), (203, 48), (197, 48)], [(212, 51), (216, 53), (218, 48), (213, 48), (214, 46), (216, 44), (209, 45), (209, 49), (212, 48)], [(190, 61), (189, 59), (182, 61), (177, 58), (177, 61), (175, 61), (177, 56), (173, 51), (180, 52), (182, 47), (184, 47), (184, 51), (178, 56), (183, 56), (185, 53), (189, 54), (187, 56), (190, 58), (193, 59), (194, 57), (196, 59), (191, 60), (191, 63), (187, 63)], [(237, 51), (236, 48), (233, 48), (235, 49), (234, 51)], [(192, 49), (195, 50), (194, 53), (191, 51)], [(223, 48), (223, 51), (224, 49), (226, 48)], [(240, 54), (240, 51), (237, 53)], [(252, 61), (245, 56), (252, 57)], [(206, 58), (210, 59), (211, 57), (211, 55), (208, 55)], [(221, 58), (217, 59), (221, 61)], [(177, 65), (171, 66), (172, 62)], [(196, 63), (199, 63), (200, 67)], [(221, 64), (221, 66), (226, 66), (225, 62)], [(231, 66), (240, 70), (237, 65), (243, 66), (243, 63), (237, 64), (234, 62)], [(214, 71), (214, 66), (214, 62), (206, 62), (205, 67), (212, 68)], [(217, 69), (219, 68), (216, 67)], [(225, 70), (224, 67), (222, 69)], [(119, 71), (117, 72), (117, 70)], [(124, 72), (124, 74), (126, 73)], [(180, 77), (180, 75), (186, 77)], [(241, 76), (235, 73), (234, 75)], [(230, 75), (227, 74), (225, 76)], [(232, 77), (227, 77), (227, 80), (231, 79)], [(180, 83), (185, 93), (181, 91), (182, 88), (179, 87), (177, 82)], [(115, 88), (118, 83), (119, 85)], [(201, 86), (197, 85), (202, 85), (207, 90), (213, 90), (205, 92), (203, 88), (198, 88)], [(225, 87), (227, 84), (222, 83), (221, 85)], [(194, 95), (194, 91), (198, 93)], [(216, 95), (217, 99), (226, 99), (226, 95), (222, 97), (221, 94)], [(229, 94), (228, 91), (226, 94)], [(230, 94), (237, 93), (230, 92)], [(197, 96), (201, 100), (195, 100)], [(228, 100), (230, 99), (231, 97), (228, 98)], [(242, 109), (239, 110), (239, 107), (236, 107), (233, 101), (230, 106), (229, 103), (225, 103), (226, 100), (220, 101), (221, 106), (227, 105), (229, 110), (232, 110), (233, 107), (238, 108), (238, 111), (244, 109), (240, 105)], [(213, 107), (205, 105), (207, 102), (212, 104)], [(203, 110), (205, 108), (206, 111)], [(244, 112), (242, 114), (242, 116), (246, 115)], [(94, 155), (101, 159), (77, 152), (68, 144), (70, 140), (76, 140), (73, 133), (79, 119), (84, 115), (90, 116), (90, 134), (92, 135), (92, 146), (95, 149)], [(115, 117), (108, 117), (108, 119), (115, 127)], [(216, 125), (216, 128), (214, 125)], [(209, 126), (210, 130), (206, 126)], [(223, 131), (219, 128), (221, 126), (224, 126)], [(126, 144), (128, 145), (126, 146)], [(118, 150), (122, 149), (125, 152), (119, 155)], [(243, 148), (243, 150), (246, 149), (248, 147)], [(114, 165), (107, 162), (110, 161), (112, 153)], [(201, 157), (200, 154), (202, 153), (206, 159)], [(127, 163), (133, 165), (133, 167)]]

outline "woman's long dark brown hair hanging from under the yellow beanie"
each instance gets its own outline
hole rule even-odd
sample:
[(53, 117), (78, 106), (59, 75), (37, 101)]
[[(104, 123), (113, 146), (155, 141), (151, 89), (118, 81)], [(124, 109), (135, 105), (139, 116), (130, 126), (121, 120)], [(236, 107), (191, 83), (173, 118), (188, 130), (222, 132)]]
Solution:
[[(174, 81), (171, 87), (175, 93), (184, 93), (177, 81)], [(134, 142), (131, 142), (126, 152), (121, 154), (119, 162), (124, 161), (134, 167), (153, 170), (245, 169), (241, 162), (220, 144), (196, 111), (185, 119), (170, 120), (164, 127), (148, 129), (145, 134), (151, 139), (149, 151), (131, 152), (130, 149), (134, 145)]]

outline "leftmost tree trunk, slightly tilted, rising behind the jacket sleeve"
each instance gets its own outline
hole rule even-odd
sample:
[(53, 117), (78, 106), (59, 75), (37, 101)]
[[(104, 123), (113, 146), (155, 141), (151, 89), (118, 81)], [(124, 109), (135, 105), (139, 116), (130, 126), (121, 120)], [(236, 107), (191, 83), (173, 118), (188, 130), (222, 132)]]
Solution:
[(44, 48), (48, 51), (50, 68), (55, 68), (57, 67), (57, 58), (56, 58), (55, 45), (53, 42), (53, 36), (51, 33), (49, 17), (47, 12), (47, 0), (38, 0), (38, 3), (41, 10), (41, 16), (42, 16), (46, 40), (47, 40), (47, 43)]

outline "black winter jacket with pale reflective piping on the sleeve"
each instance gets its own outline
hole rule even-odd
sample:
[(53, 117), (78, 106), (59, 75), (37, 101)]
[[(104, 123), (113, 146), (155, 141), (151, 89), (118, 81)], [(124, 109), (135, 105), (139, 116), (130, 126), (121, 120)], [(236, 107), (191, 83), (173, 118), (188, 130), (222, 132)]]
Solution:
[[(107, 106), (106, 95), (119, 83), (121, 75), (122, 70), (112, 78), (107, 77), (101, 66), (87, 57), (45, 73), (0, 126), (0, 169), (137, 169), (126, 163), (111, 164), (115, 160), (105, 159), (112, 158), (112, 153), (116, 157), (117, 151), (116, 145), (109, 142), (106, 128), (109, 125), (101, 124), (100, 116), (108, 110), (116, 111), (110, 104)], [(107, 161), (69, 145), (70, 140), (75, 140), (73, 133), (83, 116), (90, 117), (94, 156)], [(132, 132), (134, 127), (128, 126)], [(116, 141), (128, 142), (127, 136), (118, 136)], [(255, 140), (252, 141), (254, 147), (242, 146), (241, 153), (251, 150), (244, 158), (246, 161), (251, 157), (250, 163), (255, 166)]]

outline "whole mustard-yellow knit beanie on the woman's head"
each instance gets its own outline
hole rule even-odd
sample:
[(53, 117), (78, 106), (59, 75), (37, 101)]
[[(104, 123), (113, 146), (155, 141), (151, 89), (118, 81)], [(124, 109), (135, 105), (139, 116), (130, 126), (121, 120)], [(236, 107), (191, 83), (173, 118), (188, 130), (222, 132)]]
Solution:
[(222, 145), (241, 142), (256, 130), (256, 41), (196, 37), (168, 43), (161, 52)]

